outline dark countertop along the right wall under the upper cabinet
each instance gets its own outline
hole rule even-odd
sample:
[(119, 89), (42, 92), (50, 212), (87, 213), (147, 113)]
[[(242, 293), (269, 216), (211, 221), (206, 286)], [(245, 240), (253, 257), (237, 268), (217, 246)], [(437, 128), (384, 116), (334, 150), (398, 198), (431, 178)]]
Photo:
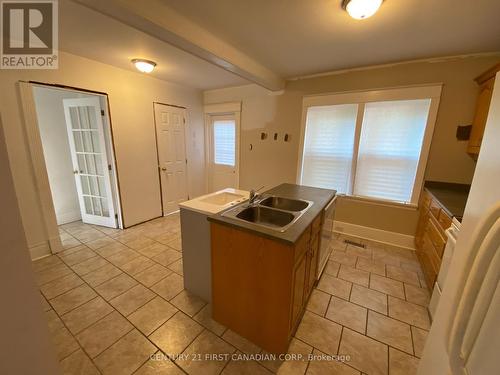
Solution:
[(443, 206), (452, 217), (461, 221), (469, 197), (470, 185), (450, 182), (426, 181), (424, 188)]

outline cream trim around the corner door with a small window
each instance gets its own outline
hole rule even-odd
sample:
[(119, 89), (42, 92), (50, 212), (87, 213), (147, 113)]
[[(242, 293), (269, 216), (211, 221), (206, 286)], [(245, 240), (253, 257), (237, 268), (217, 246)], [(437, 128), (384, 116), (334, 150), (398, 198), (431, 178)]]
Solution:
[(240, 138), (241, 138), (241, 102), (227, 102), (217, 104), (206, 104), (203, 107), (204, 122), (205, 122), (205, 191), (210, 189), (210, 122), (212, 116), (234, 116), (236, 126), (236, 155), (235, 155), (235, 174), (236, 174), (236, 189), (240, 187)]

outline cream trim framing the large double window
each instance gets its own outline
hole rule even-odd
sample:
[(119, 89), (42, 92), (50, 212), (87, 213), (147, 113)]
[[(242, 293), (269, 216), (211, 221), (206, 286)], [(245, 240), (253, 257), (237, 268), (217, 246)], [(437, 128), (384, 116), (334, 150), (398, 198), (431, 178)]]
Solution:
[(379, 101), (391, 101), (391, 100), (416, 100), (416, 99), (431, 99), (431, 104), (429, 107), (429, 115), (427, 118), (427, 124), (425, 126), (424, 138), (422, 140), (422, 149), (420, 152), (420, 157), (417, 163), (417, 172), (415, 174), (415, 183), (413, 185), (412, 195), (410, 202), (398, 202), (386, 199), (380, 199), (375, 197), (364, 197), (348, 194), (350, 198), (359, 198), (362, 200), (368, 200), (373, 202), (383, 202), (389, 203), (397, 206), (416, 206), (420, 198), (420, 193), (424, 184), (425, 170), (427, 166), (427, 160), (429, 158), (430, 146), (432, 143), (432, 135), (434, 134), (434, 127), (436, 125), (436, 119), (439, 109), (439, 102), (441, 99), (443, 84), (436, 83), (430, 85), (417, 85), (417, 86), (405, 86), (405, 87), (395, 87), (395, 88), (385, 88), (385, 89), (375, 89), (375, 90), (363, 90), (363, 91), (348, 91), (339, 93), (328, 93), (322, 95), (306, 95), (302, 99), (302, 119), (300, 126), (300, 141), (298, 150), (298, 162), (297, 162), (297, 184), (301, 183), (302, 180), (302, 169), (303, 169), (303, 159), (304, 159), (304, 141), (306, 134), (306, 120), (307, 120), (307, 110), (310, 107), (318, 106), (328, 106), (328, 105), (338, 105), (338, 104), (358, 104), (358, 114), (356, 118), (356, 129), (354, 135), (354, 149), (353, 149), (353, 161), (351, 163), (351, 181), (350, 181), (350, 191), (354, 191), (354, 183), (356, 176), (356, 164), (358, 159), (359, 151), (359, 140), (361, 136), (361, 126), (363, 123), (364, 107), (366, 103), (379, 102)]

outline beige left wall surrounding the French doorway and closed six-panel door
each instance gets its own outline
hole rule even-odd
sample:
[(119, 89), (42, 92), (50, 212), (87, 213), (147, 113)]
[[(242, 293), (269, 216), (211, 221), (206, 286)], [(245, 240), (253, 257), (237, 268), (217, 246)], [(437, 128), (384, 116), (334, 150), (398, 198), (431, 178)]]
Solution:
[(125, 225), (161, 215), (153, 102), (187, 107), (189, 193), (204, 193), (204, 128), (198, 90), (61, 52), (58, 70), (1, 70), (0, 111), (20, 210), (30, 247), (46, 241), (32, 166), (23, 133), (16, 83), (33, 80), (105, 92), (110, 115)]

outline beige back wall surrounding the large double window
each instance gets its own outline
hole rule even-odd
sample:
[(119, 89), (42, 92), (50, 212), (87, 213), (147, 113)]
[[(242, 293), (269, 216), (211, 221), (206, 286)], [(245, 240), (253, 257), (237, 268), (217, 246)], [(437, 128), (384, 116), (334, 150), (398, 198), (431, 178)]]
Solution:
[[(204, 101), (242, 101), (240, 181), (242, 188), (249, 188), (296, 180), (304, 95), (443, 83), (426, 179), (470, 183), (475, 163), (465, 152), (467, 142), (456, 140), (455, 130), (472, 122), (478, 92), (474, 77), (499, 60), (498, 56), (489, 56), (415, 62), (289, 81), (281, 95), (253, 85), (210, 90), (204, 93)], [(280, 138), (284, 132), (290, 133), (291, 142), (275, 142), (272, 137), (260, 141), (262, 130), (278, 131)], [(250, 143), (253, 151), (249, 151)], [(340, 221), (410, 235), (415, 232), (417, 218), (415, 210), (355, 200), (342, 202), (336, 216)]]

